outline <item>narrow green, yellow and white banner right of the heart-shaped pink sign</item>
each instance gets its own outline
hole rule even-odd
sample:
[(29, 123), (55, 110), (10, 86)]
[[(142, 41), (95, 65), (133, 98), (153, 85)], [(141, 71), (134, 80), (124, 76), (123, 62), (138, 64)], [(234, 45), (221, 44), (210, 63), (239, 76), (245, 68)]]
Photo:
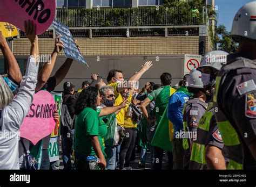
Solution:
[[(62, 93), (51, 92), (51, 95), (55, 100), (56, 110), (58, 111), (60, 119), (62, 109)], [(59, 123), (60, 121), (56, 123), (55, 128), (51, 133), (51, 139), (48, 148), (50, 162), (59, 160)]]

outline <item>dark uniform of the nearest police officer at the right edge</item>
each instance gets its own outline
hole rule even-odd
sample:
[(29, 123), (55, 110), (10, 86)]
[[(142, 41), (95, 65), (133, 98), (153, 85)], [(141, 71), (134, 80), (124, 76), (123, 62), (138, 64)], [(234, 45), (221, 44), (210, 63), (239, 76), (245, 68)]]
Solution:
[(256, 169), (248, 145), (256, 138), (256, 60), (245, 54), (227, 56), (216, 78), (214, 103), (227, 169)]

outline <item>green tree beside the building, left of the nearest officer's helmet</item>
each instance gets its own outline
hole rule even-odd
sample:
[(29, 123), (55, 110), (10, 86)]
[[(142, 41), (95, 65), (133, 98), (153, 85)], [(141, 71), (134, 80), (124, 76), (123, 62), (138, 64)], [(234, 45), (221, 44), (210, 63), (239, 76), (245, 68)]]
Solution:
[(227, 31), (224, 25), (219, 25), (216, 30), (217, 38), (215, 39), (215, 44), (218, 45), (218, 49), (225, 51), (227, 53), (236, 53), (238, 49), (238, 44), (231, 37), (231, 32)]

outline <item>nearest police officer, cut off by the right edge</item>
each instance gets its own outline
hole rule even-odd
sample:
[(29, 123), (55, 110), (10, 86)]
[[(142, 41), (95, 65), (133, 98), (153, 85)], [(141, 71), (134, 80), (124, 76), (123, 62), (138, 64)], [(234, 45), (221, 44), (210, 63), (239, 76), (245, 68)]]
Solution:
[[(224, 141), (227, 169), (256, 169), (256, 2), (242, 6), (234, 17), (231, 35), (238, 52), (216, 78), (213, 101)], [(225, 154), (225, 153), (224, 153)]]

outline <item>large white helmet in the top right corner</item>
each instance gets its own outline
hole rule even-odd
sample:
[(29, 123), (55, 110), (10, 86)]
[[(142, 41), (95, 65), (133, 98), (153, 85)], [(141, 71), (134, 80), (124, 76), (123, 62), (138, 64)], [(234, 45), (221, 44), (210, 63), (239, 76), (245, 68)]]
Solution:
[(256, 40), (256, 1), (242, 6), (234, 17), (231, 36), (235, 41), (240, 37)]

